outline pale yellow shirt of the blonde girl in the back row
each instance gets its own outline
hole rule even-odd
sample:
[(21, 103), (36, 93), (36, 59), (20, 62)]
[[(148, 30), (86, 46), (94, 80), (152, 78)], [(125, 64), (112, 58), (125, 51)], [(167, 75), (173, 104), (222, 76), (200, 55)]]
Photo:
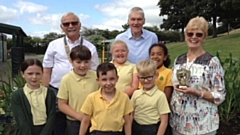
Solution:
[[(113, 61), (111, 61), (113, 63)], [(123, 65), (116, 67), (118, 71), (118, 82), (116, 89), (125, 91), (132, 87), (133, 74), (137, 73), (136, 65), (126, 61)]]

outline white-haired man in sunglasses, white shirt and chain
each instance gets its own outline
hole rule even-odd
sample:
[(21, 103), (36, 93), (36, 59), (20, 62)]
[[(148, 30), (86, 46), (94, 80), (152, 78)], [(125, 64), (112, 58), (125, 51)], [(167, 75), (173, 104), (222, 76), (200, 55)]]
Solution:
[[(96, 70), (99, 64), (96, 47), (80, 35), (81, 22), (77, 15), (72, 12), (64, 14), (61, 18), (60, 27), (66, 36), (50, 42), (43, 58), (44, 74), (42, 84), (54, 89), (56, 94), (61, 78), (72, 70), (69, 54), (73, 47), (78, 45), (88, 47), (92, 55), (92, 70)], [(65, 129), (66, 115), (57, 109), (54, 135), (64, 135)]]

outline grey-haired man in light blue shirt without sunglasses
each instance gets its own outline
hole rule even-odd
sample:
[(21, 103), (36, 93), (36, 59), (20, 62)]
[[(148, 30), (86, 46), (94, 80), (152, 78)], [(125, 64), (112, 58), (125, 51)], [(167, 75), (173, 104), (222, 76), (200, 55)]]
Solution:
[(133, 7), (128, 15), (129, 29), (116, 37), (116, 40), (123, 40), (127, 43), (128, 61), (134, 64), (149, 59), (148, 49), (151, 45), (158, 43), (157, 35), (143, 29), (144, 24), (143, 9)]

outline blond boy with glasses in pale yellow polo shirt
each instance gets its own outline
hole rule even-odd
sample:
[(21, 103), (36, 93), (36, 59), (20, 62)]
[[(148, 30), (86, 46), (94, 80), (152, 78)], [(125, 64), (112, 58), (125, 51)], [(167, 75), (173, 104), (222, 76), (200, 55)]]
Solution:
[[(137, 64), (138, 79), (143, 88), (133, 93), (133, 135), (164, 135), (170, 109), (165, 94), (155, 85), (157, 64), (144, 60)], [(160, 122), (161, 119), (161, 122)]]

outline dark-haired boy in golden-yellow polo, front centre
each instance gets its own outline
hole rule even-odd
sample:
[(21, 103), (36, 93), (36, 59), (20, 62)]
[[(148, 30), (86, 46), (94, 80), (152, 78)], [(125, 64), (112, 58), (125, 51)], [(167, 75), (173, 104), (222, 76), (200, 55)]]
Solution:
[(84, 113), (80, 134), (85, 135), (91, 120), (91, 135), (131, 135), (133, 107), (128, 96), (116, 90), (117, 69), (112, 63), (97, 67), (97, 81), (101, 88), (91, 93), (81, 111)]

